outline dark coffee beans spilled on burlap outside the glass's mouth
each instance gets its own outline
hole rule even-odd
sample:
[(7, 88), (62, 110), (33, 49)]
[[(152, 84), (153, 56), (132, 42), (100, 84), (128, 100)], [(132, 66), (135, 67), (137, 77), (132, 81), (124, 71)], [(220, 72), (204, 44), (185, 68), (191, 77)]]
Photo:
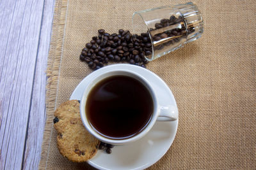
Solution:
[(129, 62), (146, 67), (148, 60), (145, 55), (152, 54), (147, 33), (141, 34), (140, 38), (134, 38), (130, 31), (123, 29), (119, 29), (118, 34), (109, 34), (104, 29), (99, 29), (98, 32), (99, 36), (93, 36), (80, 55), (80, 60), (85, 61), (91, 69), (100, 69), (109, 61)]

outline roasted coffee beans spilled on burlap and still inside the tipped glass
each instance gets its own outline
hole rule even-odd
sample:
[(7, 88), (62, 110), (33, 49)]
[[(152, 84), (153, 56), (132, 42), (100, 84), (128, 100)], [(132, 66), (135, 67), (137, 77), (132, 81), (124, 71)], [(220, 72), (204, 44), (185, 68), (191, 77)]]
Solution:
[[(187, 27), (187, 28), (186, 28)], [(152, 43), (148, 32), (131, 34), (130, 31), (119, 29), (118, 33), (109, 34), (104, 29), (98, 30), (99, 35), (93, 36), (83, 48), (80, 60), (85, 61), (93, 69), (100, 69), (111, 62), (129, 62), (146, 67), (148, 60), (145, 55), (152, 55)], [(193, 24), (185, 26), (185, 20), (180, 15), (163, 18), (150, 28), (154, 50), (162, 50), (164, 46), (172, 49), (180, 45), (180, 40), (186, 41), (188, 34), (195, 32)]]

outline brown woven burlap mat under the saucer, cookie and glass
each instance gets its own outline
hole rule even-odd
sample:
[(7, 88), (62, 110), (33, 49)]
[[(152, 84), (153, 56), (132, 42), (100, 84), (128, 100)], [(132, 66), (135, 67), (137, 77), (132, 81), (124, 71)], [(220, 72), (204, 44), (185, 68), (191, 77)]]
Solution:
[[(166, 155), (148, 169), (256, 169), (255, 1), (194, 1), (202, 38), (147, 67), (169, 85), (179, 128)], [(132, 30), (132, 13), (186, 1), (56, 0), (47, 73), (47, 124), (40, 169), (90, 169), (62, 157), (52, 118), (92, 71), (79, 54), (100, 28)]]

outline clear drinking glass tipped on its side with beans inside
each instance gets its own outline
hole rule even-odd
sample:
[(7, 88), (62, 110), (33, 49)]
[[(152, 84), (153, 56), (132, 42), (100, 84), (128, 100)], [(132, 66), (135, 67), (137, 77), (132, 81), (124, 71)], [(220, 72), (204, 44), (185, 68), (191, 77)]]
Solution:
[(195, 41), (204, 32), (202, 15), (193, 3), (136, 11), (132, 25), (134, 38), (151, 41), (143, 47), (149, 61)]

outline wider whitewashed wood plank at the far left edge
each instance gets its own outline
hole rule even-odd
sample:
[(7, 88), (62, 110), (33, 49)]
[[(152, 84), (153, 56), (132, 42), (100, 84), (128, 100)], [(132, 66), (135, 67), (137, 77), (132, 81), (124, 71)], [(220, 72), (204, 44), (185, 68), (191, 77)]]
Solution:
[(0, 169), (22, 167), (43, 7), (0, 2)]

